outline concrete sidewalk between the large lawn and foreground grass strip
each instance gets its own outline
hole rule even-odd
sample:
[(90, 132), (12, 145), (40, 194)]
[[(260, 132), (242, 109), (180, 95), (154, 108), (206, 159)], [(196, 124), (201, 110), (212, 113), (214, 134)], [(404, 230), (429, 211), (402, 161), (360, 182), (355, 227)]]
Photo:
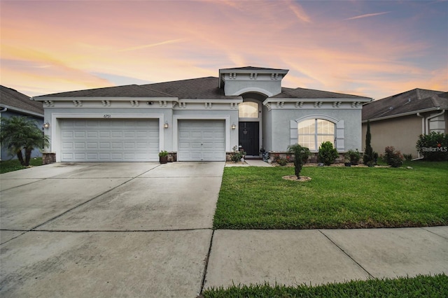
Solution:
[(448, 227), (216, 230), (205, 288), (448, 274)]

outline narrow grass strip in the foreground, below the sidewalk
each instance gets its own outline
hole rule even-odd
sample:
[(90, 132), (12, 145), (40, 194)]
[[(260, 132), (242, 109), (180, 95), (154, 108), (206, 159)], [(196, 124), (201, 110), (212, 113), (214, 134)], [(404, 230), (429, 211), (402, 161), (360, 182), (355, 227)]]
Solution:
[(204, 290), (203, 298), (218, 297), (448, 297), (448, 276), (371, 279), (316, 287), (299, 285), (235, 285)]

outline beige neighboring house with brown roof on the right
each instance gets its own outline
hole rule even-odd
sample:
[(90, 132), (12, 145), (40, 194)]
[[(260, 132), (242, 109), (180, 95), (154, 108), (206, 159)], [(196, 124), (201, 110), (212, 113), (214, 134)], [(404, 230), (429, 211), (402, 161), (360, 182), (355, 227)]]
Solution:
[(367, 120), (372, 148), (379, 154), (393, 146), (403, 154), (418, 157), (419, 135), (448, 133), (448, 92), (414, 89), (372, 101), (363, 106), (363, 149)]

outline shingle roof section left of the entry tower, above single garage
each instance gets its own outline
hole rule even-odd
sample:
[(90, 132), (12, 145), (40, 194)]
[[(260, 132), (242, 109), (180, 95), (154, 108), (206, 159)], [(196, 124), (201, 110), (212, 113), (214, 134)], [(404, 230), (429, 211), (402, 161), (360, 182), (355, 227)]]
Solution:
[(192, 78), (175, 80), (173, 82), (141, 85), (159, 92), (172, 94), (179, 99), (241, 99), (241, 97), (226, 97), (224, 90), (218, 87), (218, 78)]

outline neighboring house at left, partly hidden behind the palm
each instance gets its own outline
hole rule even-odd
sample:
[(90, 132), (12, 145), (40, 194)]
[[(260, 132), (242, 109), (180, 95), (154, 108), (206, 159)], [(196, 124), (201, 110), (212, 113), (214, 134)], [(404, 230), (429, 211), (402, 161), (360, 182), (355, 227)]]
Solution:
[[(0, 85), (0, 116), (3, 118), (10, 118), (12, 116), (27, 116), (36, 120), (39, 128), (43, 125), (43, 106), (41, 102), (32, 101), (30, 98)], [(16, 155), (10, 155), (4, 146), (1, 146), (1, 160), (15, 159)], [(31, 152), (31, 157), (42, 156), (39, 149)]]

